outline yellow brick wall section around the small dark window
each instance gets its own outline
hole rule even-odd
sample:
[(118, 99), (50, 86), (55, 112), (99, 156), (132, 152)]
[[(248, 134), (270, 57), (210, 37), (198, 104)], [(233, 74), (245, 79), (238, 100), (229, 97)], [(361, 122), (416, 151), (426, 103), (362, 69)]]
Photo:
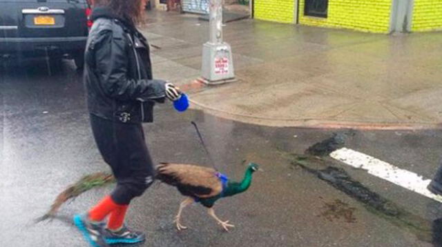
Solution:
[(301, 24), (349, 28), (365, 32), (387, 33), (390, 30), (392, 0), (329, 0), (326, 19), (304, 16), (305, 0), (299, 1)]

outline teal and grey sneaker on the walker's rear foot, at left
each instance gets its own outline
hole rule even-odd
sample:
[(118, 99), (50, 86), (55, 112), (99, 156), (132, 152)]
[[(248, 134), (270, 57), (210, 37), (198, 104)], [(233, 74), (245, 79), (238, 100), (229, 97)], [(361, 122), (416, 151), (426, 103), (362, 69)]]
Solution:
[(83, 234), (90, 246), (109, 247), (104, 239), (103, 224), (93, 224), (88, 220), (87, 215), (75, 215), (74, 224)]

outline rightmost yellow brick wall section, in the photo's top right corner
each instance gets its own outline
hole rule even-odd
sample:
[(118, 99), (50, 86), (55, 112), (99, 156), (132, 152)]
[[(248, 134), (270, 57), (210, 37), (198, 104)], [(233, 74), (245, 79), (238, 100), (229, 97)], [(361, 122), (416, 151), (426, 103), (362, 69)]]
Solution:
[(414, 0), (412, 31), (442, 29), (442, 0)]

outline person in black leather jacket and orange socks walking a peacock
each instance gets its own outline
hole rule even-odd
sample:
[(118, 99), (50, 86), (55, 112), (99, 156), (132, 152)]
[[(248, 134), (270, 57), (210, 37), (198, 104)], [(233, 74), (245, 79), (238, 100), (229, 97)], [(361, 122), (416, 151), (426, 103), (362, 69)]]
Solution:
[[(153, 121), (155, 101), (180, 98), (173, 84), (152, 78), (146, 39), (137, 31), (148, 0), (95, 0), (85, 54), (90, 124), (117, 186), (75, 225), (91, 246), (135, 244), (143, 233), (123, 222), (131, 200), (151, 186), (154, 169), (142, 122)], [(107, 225), (104, 220), (108, 217)]]

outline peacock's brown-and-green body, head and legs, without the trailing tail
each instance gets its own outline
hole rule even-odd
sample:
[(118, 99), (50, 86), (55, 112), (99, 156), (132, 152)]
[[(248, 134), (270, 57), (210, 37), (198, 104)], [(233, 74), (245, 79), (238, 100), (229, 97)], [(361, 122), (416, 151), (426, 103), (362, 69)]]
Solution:
[(218, 221), (218, 224), (220, 224), (224, 230), (229, 231), (229, 227), (234, 226), (229, 224), (228, 220), (220, 220), (215, 215), (213, 205), (215, 201), (218, 201), (218, 199), (222, 197), (231, 197), (246, 191), (251, 184), (253, 172), (258, 169), (257, 164), (250, 163), (244, 174), (244, 179), (240, 182), (234, 182), (213, 168), (189, 164), (161, 163), (157, 166), (157, 179), (171, 186), (175, 186), (177, 190), (186, 197), (186, 199), (181, 202), (178, 213), (175, 216), (174, 222), (177, 230), (187, 228), (181, 224), (183, 208), (193, 204), (193, 202), (198, 202), (208, 208), (209, 215)]

